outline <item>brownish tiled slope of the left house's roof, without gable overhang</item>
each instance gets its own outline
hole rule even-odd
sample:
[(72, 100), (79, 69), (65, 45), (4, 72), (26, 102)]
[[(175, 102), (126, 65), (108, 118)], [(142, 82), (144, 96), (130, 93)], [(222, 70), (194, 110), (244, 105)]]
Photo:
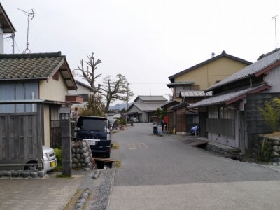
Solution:
[[(38, 55), (38, 54), (37, 54)], [(47, 79), (64, 61), (64, 57), (30, 57), (0, 55), (0, 80)]]

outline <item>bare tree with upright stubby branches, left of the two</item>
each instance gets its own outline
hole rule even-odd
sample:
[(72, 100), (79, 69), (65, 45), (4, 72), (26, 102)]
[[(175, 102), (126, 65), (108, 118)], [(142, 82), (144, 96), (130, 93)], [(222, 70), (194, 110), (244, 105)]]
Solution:
[(73, 73), (73, 76), (78, 76), (78, 77), (81, 77), (81, 78), (87, 80), (87, 82), (90, 84), (90, 87), (95, 89), (94, 81), (97, 78), (99, 78), (100, 76), (102, 76), (102, 73), (95, 76), (95, 70), (97, 69), (97, 65), (101, 64), (102, 62), (100, 59), (97, 59), (97, 61), (95, 61), (93, 52), (92, 52), (92, 55), (87, 55), (87, 59), (88, 60), (85, 63), (88, 66), (86, 66), (86, 68), (84, 66), (83, 59), (82, 59), (82, 60), (80, 60), (80, 66), (78, 66), (78, 69), (74, 69), (72, 71), (72, 73)]

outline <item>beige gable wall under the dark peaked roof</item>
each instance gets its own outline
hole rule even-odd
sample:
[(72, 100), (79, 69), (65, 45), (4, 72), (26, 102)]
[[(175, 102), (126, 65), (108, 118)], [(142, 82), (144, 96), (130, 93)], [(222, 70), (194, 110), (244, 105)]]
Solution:
[(217, 81), (227, 78), (233, 73), (244, 69), (246, 66), (248, 65), (237, 62), (228, 57), (221, 57), (209, 64), (205, 64), (176, 77), (174, 82), (193, 81), (195, 82), (193, 85), (200, 85), (200, 90), (206, 90), (208, 87), (216, 84)]

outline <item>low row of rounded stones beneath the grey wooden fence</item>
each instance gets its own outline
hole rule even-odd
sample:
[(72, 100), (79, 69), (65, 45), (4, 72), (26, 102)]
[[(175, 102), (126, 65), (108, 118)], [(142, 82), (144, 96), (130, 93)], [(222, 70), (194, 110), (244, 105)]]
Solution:
[(46, 171), (0, 171), (0, 179), (11, 179), (11, 178), (25, 178), (25, 179), (36, 179), (43, 178), (46, 175)]

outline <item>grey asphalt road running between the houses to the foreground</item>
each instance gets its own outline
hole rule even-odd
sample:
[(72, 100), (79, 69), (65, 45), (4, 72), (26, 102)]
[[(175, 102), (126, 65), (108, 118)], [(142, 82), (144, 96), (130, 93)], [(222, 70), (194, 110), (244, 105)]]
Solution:
[(218, 157), (194, 137), (154, 136), (151, 123), (114, 134), (122, 167), (109, 209), (279, 209), (280, 173)]

